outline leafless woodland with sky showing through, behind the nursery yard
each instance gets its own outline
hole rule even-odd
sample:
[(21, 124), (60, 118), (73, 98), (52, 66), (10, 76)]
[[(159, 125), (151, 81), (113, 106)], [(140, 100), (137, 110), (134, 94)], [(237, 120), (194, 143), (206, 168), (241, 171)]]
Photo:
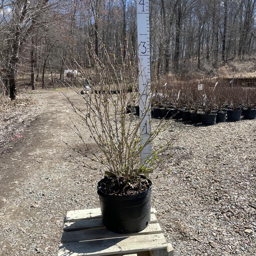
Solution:
[[(156, 75), (213, 74), (220, 64), (255, 55), (256, 0), (149, 3), (151, 71)], [(1, 1), (0, 94), (14, 99), (18, 76), (29, 76), (32, 90), (39, 77), (44, 87), (46, 71), (53, 83), (56, 74), (63, 81), (63, 71), (75, 62), (88, 66), (86, 49), (93, 45), (99, 54), (100, 41), (106, 47), (128, 41), (130, 53), (136, 53), (136, 20), (133, 0)]]

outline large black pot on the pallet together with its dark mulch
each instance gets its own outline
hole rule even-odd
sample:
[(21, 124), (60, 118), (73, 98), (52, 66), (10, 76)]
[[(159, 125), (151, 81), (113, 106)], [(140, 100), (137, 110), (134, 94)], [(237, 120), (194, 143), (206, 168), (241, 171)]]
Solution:
[(140, 175), (119, 189), (115, 177), (105, 177), (98, 183), (98, 195), (104, 226), (116, 233), (134, 233), (150, 222), (152, 183)]

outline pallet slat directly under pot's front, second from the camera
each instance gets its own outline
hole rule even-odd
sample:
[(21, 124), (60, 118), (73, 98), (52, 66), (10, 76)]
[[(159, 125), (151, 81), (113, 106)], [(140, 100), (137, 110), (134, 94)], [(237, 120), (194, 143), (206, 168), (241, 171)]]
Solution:
[(64, 232), (61, 237), (62, 243), (69, 242), (79, 242), (79, 241), (89, 241), (89, 240), (98, 240), (98, 239), (107, 239), (107, 238), (119, 238), (119, 237), (128, 237), (128, 236), (142, 236), (149, 234), (161, 234), (162, 230), (158, 223), (149, 224), (145, 229), (140, 232), (132, 234), (117, 234), (103, 229), (90, 229), (90, 230), (77, 230)]

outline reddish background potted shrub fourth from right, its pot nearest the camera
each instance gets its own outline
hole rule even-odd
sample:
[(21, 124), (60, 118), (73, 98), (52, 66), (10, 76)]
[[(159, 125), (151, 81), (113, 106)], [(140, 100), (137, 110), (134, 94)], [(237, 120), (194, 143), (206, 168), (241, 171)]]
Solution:
[(201, 114), (202, 124), (212, 125), (216, 123), (216, 113), (212, 113), (214, 106), (214, 93), (213, 88), (209, 86), (209, 84), (204, 85), (203, 87), (203, 110), (204, 114)]

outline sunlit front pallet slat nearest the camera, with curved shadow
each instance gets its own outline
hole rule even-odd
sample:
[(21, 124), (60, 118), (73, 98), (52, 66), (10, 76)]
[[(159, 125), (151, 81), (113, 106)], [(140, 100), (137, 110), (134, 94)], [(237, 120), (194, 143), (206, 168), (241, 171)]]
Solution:
[(102, 256), (167, 249), (163, 234), (129, 236), (60, 244), (58, 256)]

